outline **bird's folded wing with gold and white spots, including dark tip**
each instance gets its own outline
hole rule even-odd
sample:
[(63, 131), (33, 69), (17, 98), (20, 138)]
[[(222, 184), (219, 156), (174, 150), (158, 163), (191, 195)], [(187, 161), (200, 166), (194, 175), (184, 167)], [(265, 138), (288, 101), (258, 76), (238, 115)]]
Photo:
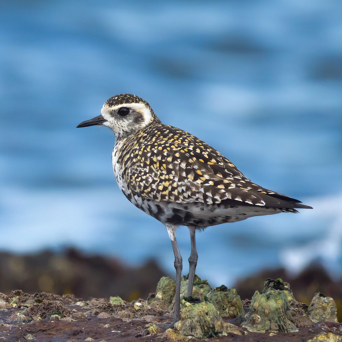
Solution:
[(289, 197), (269, 196), (276, 193), (252, 183), (231, 161), (200, 140), (155, 146), (140, 146), (124, 169), (129, 189), (139, 196), (179, 203), (289, 204)]

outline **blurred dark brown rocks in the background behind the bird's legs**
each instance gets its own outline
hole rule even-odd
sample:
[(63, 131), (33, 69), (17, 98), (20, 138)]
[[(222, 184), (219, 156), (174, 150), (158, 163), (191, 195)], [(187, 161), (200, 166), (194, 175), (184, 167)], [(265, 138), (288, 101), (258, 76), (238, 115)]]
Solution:
[[(147, 298), (164, 275), (167, 272), (153, 260), (130, 267), (116, 258), (84, 254), (74, 248), (30, 254), (0, 252), (0, 292), (7, 294), (13, 289), (73, 293), (83, 299), (109, 298), (115, 294), (132, 301)], [(242, 299), (251, 298), (255, 290), (263, 289), (267, 278), (287, 281), (295, 298), (306, 304), (318, 291), (332, 297), (340, 308), (338, 318), (342, 321), (342, 279), (331, 279), (320, 264), (310, 265), (298, 276), (287, 274), (283, 268), (261, 271), (238, 280), (235, 287)]]

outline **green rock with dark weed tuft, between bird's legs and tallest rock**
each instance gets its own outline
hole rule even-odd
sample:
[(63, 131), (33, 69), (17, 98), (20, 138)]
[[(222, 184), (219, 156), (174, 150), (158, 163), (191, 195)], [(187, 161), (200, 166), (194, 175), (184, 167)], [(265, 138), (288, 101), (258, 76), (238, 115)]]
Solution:
[(216, 287), (208, 293), (208, 299), (222, 317), (237, 317), (244, 313), (241, 298), (234, 287), (231, 289), (224, 285)]

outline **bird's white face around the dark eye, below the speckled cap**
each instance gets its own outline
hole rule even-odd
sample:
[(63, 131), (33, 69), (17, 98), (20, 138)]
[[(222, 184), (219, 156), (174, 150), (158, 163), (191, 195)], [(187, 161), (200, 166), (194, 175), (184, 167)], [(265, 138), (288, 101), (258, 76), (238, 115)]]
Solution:
[(105, 103), (101, 116), (103, 126), (110, 128), (117, 137), (124, 137), (146, 127), (152, 120), (151, 109), (144, 103), (123, 103), (110, 106)]

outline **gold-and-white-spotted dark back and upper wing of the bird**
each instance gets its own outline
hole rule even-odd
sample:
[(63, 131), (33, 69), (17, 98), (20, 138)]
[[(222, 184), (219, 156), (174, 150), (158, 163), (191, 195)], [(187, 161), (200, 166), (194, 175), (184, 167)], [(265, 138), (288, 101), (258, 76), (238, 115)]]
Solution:
[(275, 194), (247, 179), (233, 163), (192, 134), (161, 123), (124, 141), (118, 155), (133, 194), (155, 201), (264, 206), (258, 193)]

